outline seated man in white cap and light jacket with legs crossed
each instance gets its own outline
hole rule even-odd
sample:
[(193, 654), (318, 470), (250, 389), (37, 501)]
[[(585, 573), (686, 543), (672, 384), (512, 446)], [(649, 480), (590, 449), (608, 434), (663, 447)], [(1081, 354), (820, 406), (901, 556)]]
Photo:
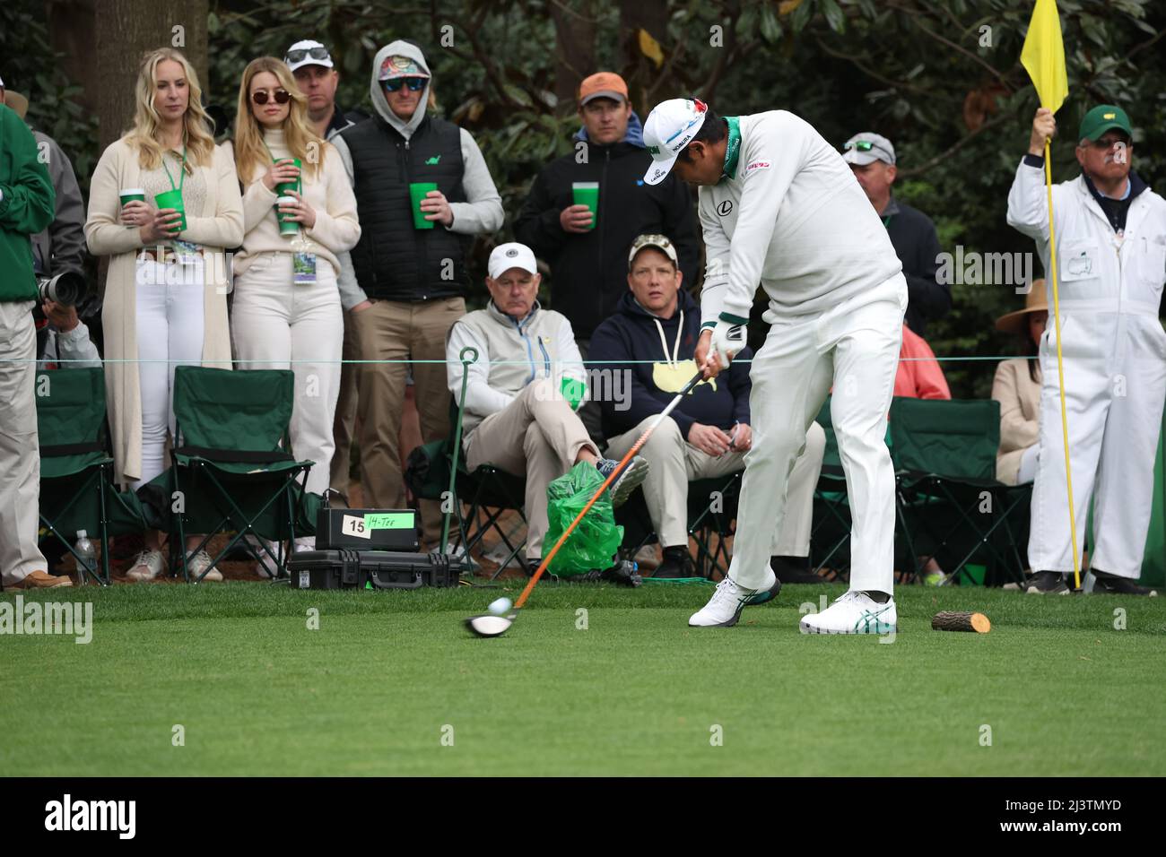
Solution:
[[(445, 349), (449, 389), (457, 401), (465, 387), (463, 443), (473, 471), (490, 463), (526, 476), (526, 556), (536, 567), (547, 534), (547, 485), (580, 462), (606, 477), (618, 462), (602, 458), (562, 389), (583, 386), (584, 370), (570, 322), (539, 305), (534, 253), (522, 244), (503, 244), (490, 254), (490, 303), (459, 318)], [(465, 346), (478, 359), (466, 370)], [(639, 456), (611, 485), (620, 505), (644, 482), (647, 463)], [(533, 570), (533, 569), (532, 569)]]

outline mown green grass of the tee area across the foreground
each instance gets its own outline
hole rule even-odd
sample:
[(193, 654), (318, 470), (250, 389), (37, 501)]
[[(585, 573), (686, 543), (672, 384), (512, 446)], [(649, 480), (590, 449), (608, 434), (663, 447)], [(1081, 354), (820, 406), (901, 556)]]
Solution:
[(689, 628), (710, 586), (540, 584), (489, 640), (462, 620), (514, 584), (21, 593), (92, 600), (93, 638), (0, 635), (0, 773), (1166, 774), (1166, 598), (911, 586), (893, 641), (799, 633), (842, 591)]

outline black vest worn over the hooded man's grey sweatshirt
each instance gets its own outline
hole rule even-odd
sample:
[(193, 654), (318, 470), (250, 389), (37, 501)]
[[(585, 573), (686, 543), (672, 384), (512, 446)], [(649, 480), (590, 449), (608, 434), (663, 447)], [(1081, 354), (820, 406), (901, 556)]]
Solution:
[(436, 182), (449, 202), (465, 202), (461, 133), (456, 125), (430, 117), (409, 140), (379, 117), (342, 132), (352, 153), (360, 216), (352, 266), (368, 297), (427, 301), (465, 295), (470, 236), (441, 225), (414, 229), (409, 202), (410, 182)]

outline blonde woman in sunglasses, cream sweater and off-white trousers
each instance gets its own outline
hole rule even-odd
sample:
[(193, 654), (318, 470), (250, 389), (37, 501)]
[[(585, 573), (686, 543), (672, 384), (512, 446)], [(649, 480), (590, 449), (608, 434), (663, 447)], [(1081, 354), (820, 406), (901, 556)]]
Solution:
[[(344, 163), (316, 134), (308, 99), (280, 59), (260, 57), (243, 72), (234, 156), (245, 189), (231, 310), (236, 356), (240, 368), (295, 372), (292, 450), (316, 463), (307, 489), (323, 493), (344, 344), (337, 257), (356, 245), (360, 224)], [(300, 190), (290, 189), (297, 181)], [(281, 233), (280, 219), (297, 229)]]

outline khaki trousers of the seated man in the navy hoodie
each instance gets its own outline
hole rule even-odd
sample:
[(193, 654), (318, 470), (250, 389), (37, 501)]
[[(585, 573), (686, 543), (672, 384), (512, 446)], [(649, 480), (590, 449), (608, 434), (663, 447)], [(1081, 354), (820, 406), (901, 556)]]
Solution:
[[(610, 458), (623, 458), (655, 420), (648, 416), (631, 431), (612, 437), (607, 443)], [(809, 533), (814, 515), (814, 487), (822, 470), (826, 433), (812, 422), (806, 433), (806, 448), (789, 475), (789, 500), (780, 526), (773, 531), (770, 554), (773, 556), (809, 556)], [(688, 483), (736, 473), (745, 466), (746, 452), (725, 452), (714, 457), (684, 440), (680, 426), (670, 416), (652, 433), (639, 455), (648, 463), (644, 480), (644, 500), (652, 528), (660, 546), (688, 547)], [(710, 498), (711, 499), (711, 498)]]

